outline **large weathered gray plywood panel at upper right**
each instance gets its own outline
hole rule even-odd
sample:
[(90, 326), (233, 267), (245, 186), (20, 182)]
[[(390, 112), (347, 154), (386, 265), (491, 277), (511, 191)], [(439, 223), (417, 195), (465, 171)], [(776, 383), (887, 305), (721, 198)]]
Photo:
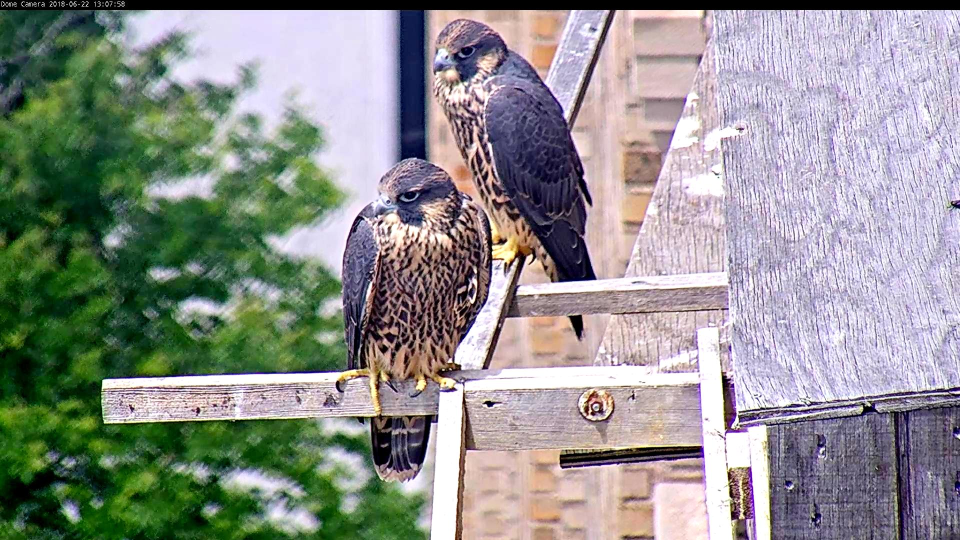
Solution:
[(960, 12), (724, 11), (714, 40), (737, 135), (740, 420), (943, 404), (960, 388)]

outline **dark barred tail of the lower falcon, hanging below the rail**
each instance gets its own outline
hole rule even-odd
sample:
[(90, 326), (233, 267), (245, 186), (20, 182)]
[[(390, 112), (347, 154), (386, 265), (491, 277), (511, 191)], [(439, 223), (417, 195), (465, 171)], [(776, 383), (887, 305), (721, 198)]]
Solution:
[(426, 458), (431, 420), (430, 416), (372, 418), (373, 465), (380, 479), (407, 481), (417, 476)]

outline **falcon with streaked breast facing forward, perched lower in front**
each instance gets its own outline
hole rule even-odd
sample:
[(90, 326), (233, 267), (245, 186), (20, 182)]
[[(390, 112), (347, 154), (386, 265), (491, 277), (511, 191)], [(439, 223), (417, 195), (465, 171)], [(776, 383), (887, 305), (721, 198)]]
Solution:
[(348, 371), (368, 377), (373, 463), (385, 480), (417, 476), (430, 438), (430, 416), (382, 417), (378, 382), (441, 377), (487, 301), (490, 222), (444, 169), (403, 160), (380, 180), (380, 198), (360, 211), (344, 253), (344, 323)]

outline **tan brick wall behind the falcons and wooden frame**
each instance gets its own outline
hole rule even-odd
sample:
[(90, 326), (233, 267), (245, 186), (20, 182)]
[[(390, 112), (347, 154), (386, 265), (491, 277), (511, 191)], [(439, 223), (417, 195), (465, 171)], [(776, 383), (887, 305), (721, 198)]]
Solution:
[[(444, 25), (467, 17), (490, 24), (545, 76), (566, 12), (431, 11), (428, 17), (429, 57)], [(573, 131), (594, 199), (588, 245), (600, 278), (620, 277), (626, 269), (704, 48), (702, 17), (699, 11), (621, 11), (614, 18)], [(432, 94), (428, 99), (429, 159), (474, 194), (443, 112)], [(539, 264), (524, 271), (522, 282), (545, 281)], [(606, 319), (586, 317), (583, 342), (565, 317), (509, 319), (492, 367), (591, 365)], [(564, 471), (558, 454), (468, 453), (464, 537), (706, 538), (699, 460)], [(431, 471), (421, 476), (427, 480)]]

